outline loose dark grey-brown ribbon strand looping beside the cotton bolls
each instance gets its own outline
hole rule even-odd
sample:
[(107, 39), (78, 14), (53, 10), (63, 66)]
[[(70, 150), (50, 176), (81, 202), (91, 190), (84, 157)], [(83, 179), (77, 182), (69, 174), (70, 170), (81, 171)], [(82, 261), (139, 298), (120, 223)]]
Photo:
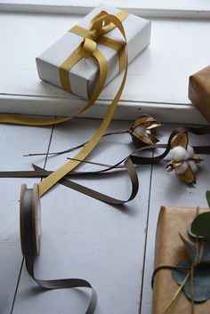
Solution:
[[(208, 126), (207, 128), (178, 128), (176, 130), (174, 130), (173, 133), (171, 133), (171, 135), (168, 138), (168, 141), (166, 144), (154, 144), (154, 145), (149, 145), (146, 147), (142, 147), (140, 149), (136, 149), (134, 150), (129, 156), (123, 158), (122, 160), (120, 160), (119, 162), (117, 162), (116, 165), (103, 165), (106, 166), (106, 168), (102, 169), (102, 170), (98, 170), (98, 171), (92, 171), (92, 172), (70, 172), (70, 173), (66, 173), (65, 178), (62, 178), (59, 182), (67, 187), (69, 187), (70, 189), (75, 189), (80, 193), (83, 193), (89, 197), (93, 197), (96, 199), (99, 199), (105, 203), (108, 204), (112, 204), (112, 205), (122, 205), (130, 200), (132, 200), (139, 189), (139, 181), (138, 181), (138, 176), (136, 173), (136, 169), (134, 165), (153, 165), (153, 164), (157, 164), (158, 162), (160, 162), (163, 158), (165, 158), (167, 156), (167, 154), (169, 153), (170, 149), (171, 149), (171, 140), (174, 138), (174, 136), (176, 134), (179, 133), (185, 133), (186, 131), (189, 131), (191, 133), (195, 133), (198, 135), (203, 135), (203, 134), (209, 134), (210, 133), (210, 127)], [(156, 157), (141, 157), (141, 156), (136, 156), (134, 154), (136, 153), (140, 153), (143, 150), (148, 150), (148, 149), (165, 149), (164, 152)], [(194, 147), (195, 151), (197, 153), (200, 154), (210, 154), (210, 146), (198, 146), (198, 147)], [(80, 162), (82, 162), (81, 160), (79, 160)], [(122, 166), (122, 164), (125, 164), (125, 167)], [(94, 164), (94, 163), (93, 163)], [(52, 174), (52, 172), (50, 171), (46, 171), (36, 165), (33, 165), (34, 167), (34, 171), (3, 171), (0, 172), (0, 178), (31, 178), (31, 177), (46, 177), (50, 174)], [(130, 197), (128, 197), (127, 200), (121, 200), (121, 199), (117, 199), (114, 197), (109, 197), (108, 195), (102, 194), (101, 192), (98, 192), (96, 190), (93, 189), (89, 189), (81, 184), (78, 184), (76, 182), (73, 181), (69, 181), (68, 180), (68, 176), (77, 176), (78, 175), (94, 175), (94, 174), (102, 174), (102, 173), (109, 173), (112, 170), (115, 169), (125, 169), (128, 173), (128, 176), (130, 178), (130, 181), (132, 183), (132, 192)]]

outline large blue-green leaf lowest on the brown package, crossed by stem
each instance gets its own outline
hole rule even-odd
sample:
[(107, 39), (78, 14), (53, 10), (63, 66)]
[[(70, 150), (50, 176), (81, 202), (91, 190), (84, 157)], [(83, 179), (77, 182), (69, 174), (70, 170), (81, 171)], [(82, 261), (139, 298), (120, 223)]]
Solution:
[[(177, 264), (179, 267), (187, 267), (190, 269), (189, 261), (182, 261)], [(173, 270), (172, 278), (178, 285), (182, 285), (183, 279), (190, 270)], [(191, 279), (189, 278), (184, 285), (183, 292), (191, 298)], [(210, 299), (210, 266), (209, 264), (199, 263), (194, 267), (194, 301), (205, 302)]]

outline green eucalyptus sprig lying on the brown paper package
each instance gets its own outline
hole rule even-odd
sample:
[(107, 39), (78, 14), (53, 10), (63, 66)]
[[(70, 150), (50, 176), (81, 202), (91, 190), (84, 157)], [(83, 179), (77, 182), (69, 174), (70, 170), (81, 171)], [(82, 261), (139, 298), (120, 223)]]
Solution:
[[(206, 200), (210, 207), (208, 190)], [(184, 278), (193, 267), (193, 302), (206, 302), (210, 299), (210, 211), (198, 214), (191, 223), (190, 234), (197, 238), (197, 244), (193, 245), (181, 236), (188, 260), (176, 265), (178, 268), (172, 271), (172, 277), (178, 285), (182, 285)], [(189, 299), (191, 299), (191, 284), (189, 276), (183, 286), (183, 292)]]

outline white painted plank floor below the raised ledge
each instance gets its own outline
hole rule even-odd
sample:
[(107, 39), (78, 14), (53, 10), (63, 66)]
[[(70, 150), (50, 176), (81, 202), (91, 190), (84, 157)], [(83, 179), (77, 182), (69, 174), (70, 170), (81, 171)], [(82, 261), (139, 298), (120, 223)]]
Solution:
[[(31, 163), (53, 170), (69, 155), (23, 157), (33, 152), (67, 149), (90, 138), (98, 120), (75, 119), (52, 127), (0, 125), (0, 170), (29, 170)], [(109, 131), (125, 130), (129, 121), (113, 121)], [(175, 125), (158, 131), (161, 142)], [(191, 136), (192, 144), (207, 144), (209, 136)], [(133, 150), (128, 135), (103, 139), (89, 160), (114, 164)], [(72, 154), (73, 155), (73, 154)], [(206, 206), (210, 189), (210, 157), (203, 156), (195, 188), (166, 173), (164, 165), (138, 169), (138, 196), (121, 208), (103, 204), (57, 185), (42, 199), (41, 254), (37, 278), (86, 278), (99, 299), (96, 314), (151, 314), (155, 230), (160, 205)], [(95, 169), (82, 165), (81, 169)], [(19, 230), (20, 184), (34, 179), (0, 179), (0, 313), (81, 314), (88, 293), (80, 289), (43, 291), (22, 264)], [(93, 189), (125, 198), (130, 192), (125, 173), (77, 178)]]

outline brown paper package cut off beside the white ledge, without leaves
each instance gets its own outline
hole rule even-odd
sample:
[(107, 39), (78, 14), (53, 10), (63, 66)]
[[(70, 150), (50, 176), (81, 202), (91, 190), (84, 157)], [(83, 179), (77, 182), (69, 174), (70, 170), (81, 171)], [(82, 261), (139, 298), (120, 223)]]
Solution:
[(190, 76), (189, 99), (210, 123), (210, 66)]

